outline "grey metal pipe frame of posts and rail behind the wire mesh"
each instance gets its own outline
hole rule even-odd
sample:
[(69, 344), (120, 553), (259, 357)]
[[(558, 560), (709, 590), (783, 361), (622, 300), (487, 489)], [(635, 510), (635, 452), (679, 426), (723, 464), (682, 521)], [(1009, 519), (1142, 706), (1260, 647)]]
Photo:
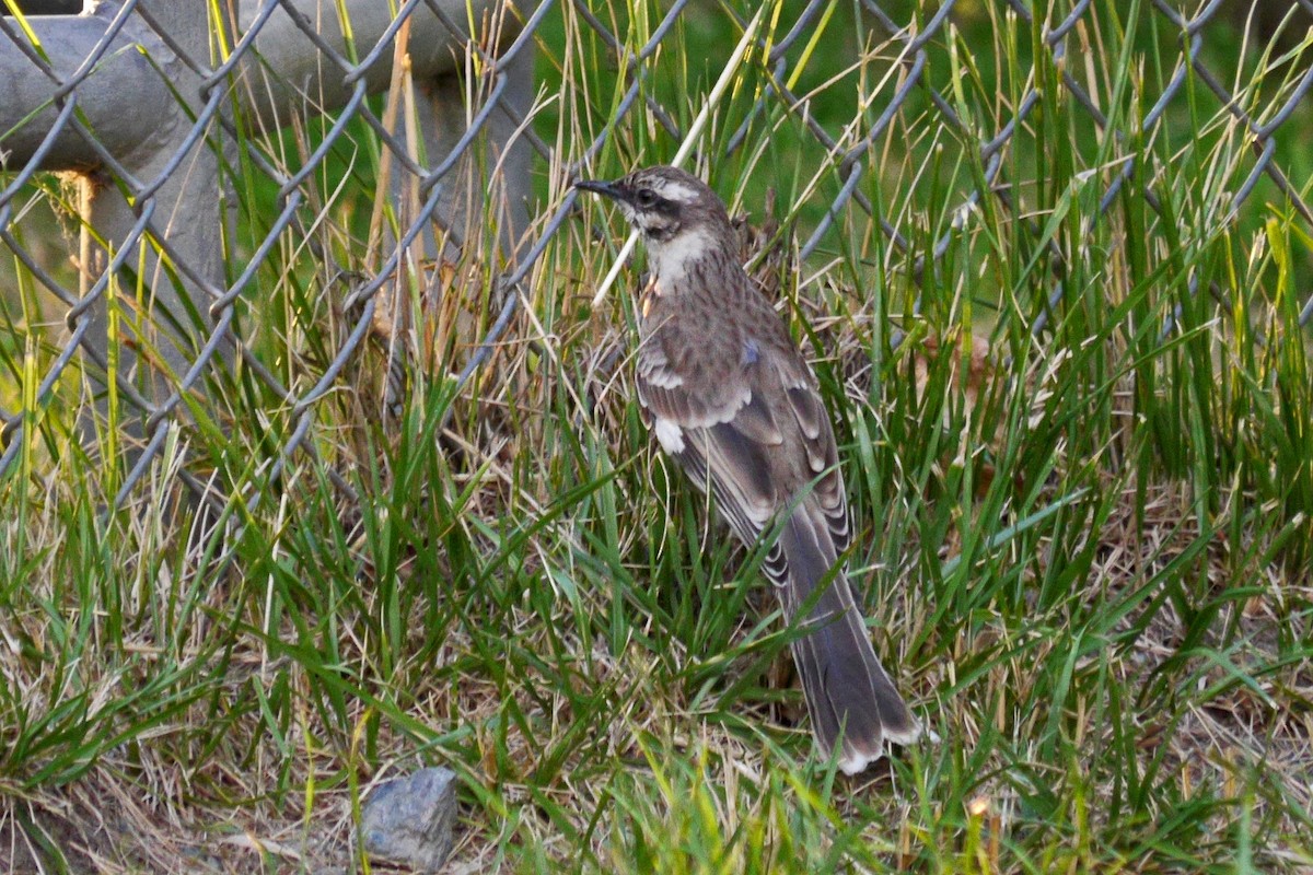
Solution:
[[(150, 443), (142, 463), (179, 416), (181, 396), (223, 367), (225, 353), (232, 349), (228, 341), (236, 341), (232, 304), (252, 296), (253, 282), (239, 277), (246, 265), (236, 262), (232, 237), (225, 235), (230, 215), (222, 186), (232, 146), (223, 118), (234, 96), (246, 121), (267, 132), (286, 125), (289, 113), (345, 108), (348, 115), (357, 114), (361, 96), (389, 83), (391, 41), (404, 21), (415, 81), (432, 96), (418, 108), (428, 167), (408, 165), (412, 178), (429, 173), (421, 178), (425, 189), (436, 185), (442, 194), (439, 209), (431, 205), (425, 215), (441, 227), (460, 227), (466, 218), (458, 211), (462, 203), (482, 205), (484, 197), (507, 193), (512, 207), (500, 223), (502, 243), (504, 261), (513, 261), (512, 244), (528, 227), (532, 155), (519, 134), (532, 100), (532, 51), (521, 51), (500, 71), (508, 81), (490, 105), (506, 102), (494, 117), (479, 119), (477, 131), (466, 130), (465, 89), (452, 73), (470, 45), (491, 47), (502, 35), (484, 33), (486, 24), (471, 34), (462, 24), (500, 17), (507, 35), (517, 33), (509, 7), (442, 0), (410, 4), (394, 20), (386, 4), (344, 5), (355, 51), (369, 50), (358, 63), (348, 60), (348, 28), (339, 21), (343, 8), (327, 0), (215, 7), (217, 14), (240, 16), (240, 28), (228, 20), (217, 26), (204, 0), (106, 1), (81, 16), (32, 17), (34, 38), (13, 20), (0, 20), (5, 37), (0, 81), (9, 88), (0, 101), (0, 161), (17, 171), (0, 190), (0, 232), (12, 222), (16, 194), (33, 173), (79, 174), (77, 290), (60, 286), (25, 258), (68, 307), (71, 331), (66, 354), (45, 371), (39, 394), (53, 390), (75, 349), (85, 352), (95, 382), (104, 384), (112, 376), (119, 397), (135, 408), (133, 415), (146, 416)], [(226, 43), (235, 46), (232, 58), (219, 55), (218, 28), (234, 37)], [(249, 39), (239, 43), (236, 37)], [(221, 73), (235, 76), (235, 91)], [(486, 165), (467, 153), (469, 135), (475, 132), (494, 144)], [(484, 169), (496, 185), (479, 176)], [(427, 239), (436, 243), (432, 232)], [(25, 256), (21, 244), (9, 236), (5, 241)], [(429, 252), (436, 254), (436, 247)], [(104, 399), (98, 409), (104, 415)], [(22, 417), (3, 411), (0, 417), (4, 471), (14, 459), (12, 438)]]

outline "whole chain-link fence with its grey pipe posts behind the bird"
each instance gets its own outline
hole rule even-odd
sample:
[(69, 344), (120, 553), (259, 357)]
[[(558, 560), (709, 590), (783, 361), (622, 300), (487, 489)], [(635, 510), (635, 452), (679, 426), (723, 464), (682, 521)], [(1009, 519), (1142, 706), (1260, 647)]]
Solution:
[[(365, 3), (218, 5), (230, 17), (209, 18), (215, 7), (205, 3), (142, 0), (101, 4), (80, 18), (0, 20), (0, 79), (9, 83), (0, 113), (0, 240), (11, 262), (0, 327), (0, 475), (32, 470), (42, 446), (58, 445), (54, 433), (39, 436), (56, 428), (50, 412), (63, 409), (74, 413), (63, 421), (84, 424), (84, 441), (106, 421), (135, 424), (122, 441), (101, 434), (100, 446), (126, 459), (112, 484), (116, 505), (130, 501), (152, 467), (226, 500), (230, 487), (206, 474), (213, 462), (175, 458), (180, 430), (231, 429), (231, 401), (221, 399), (259, 399), (268, 418), (251, 441), (257, 458), (249, 464), (261, 483), (277, 481), (290, 459), (314, 451), (316, 409), (352, 383), (366, 346), (383, 348), (391, 370), (400, 370), (395, 338), (406, 332), (428, 337), (452, 392), (467, 391), (537, 294), (530, 285), (542, 281), (541, 256), (575, 210), (569, 182), (597, 165), (620, 169), (643, 143), (656, 144), (645, 155), (668, 155), (689, 139), (705, 92), (668, 81), (672, 68), (691, 63), (672, 67), (670, 58), (687, 30), (723, 35), (721, 56), (692, 59), (708, 72), (689, 79), (699, 87), (735, 58), (737, 45), (747, 50), (726, 68), (738, 75), (737, 102), (726, 98), (708, 117), (720, 134), (706, 140), (717, 153), (705, 146), (699, 153), (701, 167), (759, 147), (763, 127), (793, 125), (811, 140), (790, 160), (831, 193), (813, 193), (810, 213), (789, 205), (804, 261), (838, 224), (876, 223), (914, 262), (918, 281), (932, 285), (931, 262), (983, 202), (1015, 211), (1016, 222), (1043, 223), (1022, 207), (1018, 189), (1033, 181), (1008, 178), (1008, 155), (1028, 127), (1046, 123), (1041, 115), (1058, 115), (1060, 101), (1099, 139), (1111, 130), (1112, 142), (1125, 144), (1100, 155), (1099, 167), (1077, 168), (1102, 180), (1100, 215), (1130, 197), (1165, 226), (1175, 222), (1148, 184), (1154, 169), (1136, 160), (1136, 144), (1157, 136), (1170, 113), (1207, 98), (1253, 147), (1239, 184), (1216, 210), (1218, 227), (1251, 210), (1259, 186), (1313, 226), (1302, 182), (1292, 182), (1278, 157), (1313, 87), (1299, 42), (1309, 0), (1289, 9), (1268, 4), (1283, 12), (1271, 43), (1271, 10), (1246, 18), (1239, 4), (1222, 0), (1128, 4), (1138, 22), (1123, 25), (1175, 45), (1158, 71), (1161, 89), (1150, 93), (1150, 75), (1136, 83), (1145, 89), (1140, 117), (1109, 115), (1109, 94), (1091, 93), (1083, 75), (1100, 51), (1092, 34), (1107, 28), (1094, 21), (1091, 0), (1048, 8), (1010, 0), (989, 10), (952, 0), (864, 0), (856, 10), (815, 0), (767, 4), (756, 17), (689, 0), (410, 0), (395, 16), (379, 12), (386, 4)], [(861, 33), (878, 39), (853, 42), (835, 16), (860, 21)], [(982, 16), (1014, 22), (1029, 41), (1022, 50), (1031, 84), (1004, 101), (1011, 112), (1002, 123), (964, 117), (966, 104), (955, 96), (970, 67), (953, 55), (962, 45), (956, 28)], [(1211, 67), (1209, 41), (1246, 34), (1253, 52), (1266, 46), (1266, 76), (1246, 81)], [(848, 115), (835, 121), (817, 112), (822, 98), (834, 102), (825, 83), (801, 88), (818, 52), (840, 50), (878, 58), (884, 79), (868, 83), (867, 93), (861, 85), (848, 91)], [(574, 70), (580, 58), (596, 70)], [(604, 83), (613, 91), (596, 91)], [(586, 110), (562, 121), (576, 104)], [(947, 130), (940, 148), (974, 151), (981, 168), (928, 245), (911, 239), (906, 214), (872, 197), (876, 152), (895, 123)], [(624, 144), (620, 131), (628, 131)], [(352, 189), (356, 202), (334, 201), (351, 181), (364, 181)], [(59, 215), (46, 215), (51, 206)], [(1064, 286), (1064, 253), (1048, 245), (1049, 291), (1032, 314), (1037, 335), (1074, 294)], [(280, 282), (290, 287), (282, 312), (261, 312), (261, 290)], [(475, 291), (444, 303), (456, 287)], [(1201, 294), (1228, 302), (1243, 291), (1213, 285)], [(436, 310), (416, 300), (436, 302)], [(441, 319), (420, 331), (414, 320), (427, 312)], [(1310, 316), (1306, 296), (1299, 323)], [(1162, 332), (1171, 331), (1169, 320)]]

